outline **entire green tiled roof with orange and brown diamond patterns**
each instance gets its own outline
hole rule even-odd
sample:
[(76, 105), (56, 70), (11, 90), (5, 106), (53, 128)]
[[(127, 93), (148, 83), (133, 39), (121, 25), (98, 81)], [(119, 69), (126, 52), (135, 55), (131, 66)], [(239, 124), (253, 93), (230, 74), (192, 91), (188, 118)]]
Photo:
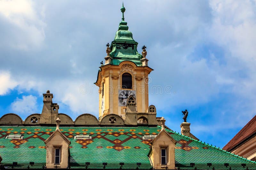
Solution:
[[(46, 162), (44, 140), (56, 127), (0, 127), (0, 155), (4, 166), (11, 166), (18, 162), (17, 167), (26, 168), (29, 162), (35, 162), (33, 167), (41, 168)], [(151, 168), (148, 159), (150, 141), (142, 139), (143, 135), (158, 134), (160, 127), (60, 127), (61, 132), (71, 141), (70, 166), (83, 168), (85, 162), (90, 162), (89, 168), (102, 168), (107, 162), (107, 169), (136, 168), (140, 162), (140, 169)], [(254, 161), (225, 152), (215, 146), (196, 141), (167, 130), (177, 141), (175, 147), (175, 165), (180, 169), (194, 169), (190, 163), (195, 163), (197, 169), (208, 169), (207, 163), (212, 163), (216, 169), (256, 169)], [(8, 134), (22, 134), (23, 139), (5, 139)], [(92, 139), (74, 139), (74, 135), (89, 134)], [(224, 163), (229, 163), (228, 168)], [(246, 167), (241, 166), (242, 163)], [(209, 168), (209, 169), (212, 169)]]

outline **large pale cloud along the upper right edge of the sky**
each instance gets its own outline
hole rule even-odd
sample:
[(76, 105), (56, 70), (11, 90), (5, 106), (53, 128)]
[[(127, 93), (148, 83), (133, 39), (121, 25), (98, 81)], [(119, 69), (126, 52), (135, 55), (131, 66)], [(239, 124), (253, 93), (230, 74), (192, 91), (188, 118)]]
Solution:
[[(210, 1), (213, 22), (210, 39), (222, 46), (226, 64), (218, 81), (232, 84), (232, 92), (256, 103), (256, 4), (253, 1)], [(252, 104), (253, 106), (254, 104)]]

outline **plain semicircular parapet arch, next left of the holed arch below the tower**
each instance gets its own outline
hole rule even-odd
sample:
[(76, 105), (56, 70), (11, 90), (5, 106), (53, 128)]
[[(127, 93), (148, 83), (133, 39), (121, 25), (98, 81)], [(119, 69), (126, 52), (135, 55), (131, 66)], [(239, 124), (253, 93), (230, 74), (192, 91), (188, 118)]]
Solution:
[(75, 125), (98, 125), (99, 121), (97, 117), (89, 113), (84, 113), (76, 117)]

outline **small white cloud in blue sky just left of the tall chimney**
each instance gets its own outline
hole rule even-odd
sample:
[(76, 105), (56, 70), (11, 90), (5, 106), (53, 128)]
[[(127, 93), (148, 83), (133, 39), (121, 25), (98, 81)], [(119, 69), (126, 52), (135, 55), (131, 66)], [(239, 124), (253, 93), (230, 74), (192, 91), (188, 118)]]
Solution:
[(18, 115), (28, 116), (37, 111), (36, 96), (22, 96), (22, 99), (17, 98), (11, 104), (11, 110)]

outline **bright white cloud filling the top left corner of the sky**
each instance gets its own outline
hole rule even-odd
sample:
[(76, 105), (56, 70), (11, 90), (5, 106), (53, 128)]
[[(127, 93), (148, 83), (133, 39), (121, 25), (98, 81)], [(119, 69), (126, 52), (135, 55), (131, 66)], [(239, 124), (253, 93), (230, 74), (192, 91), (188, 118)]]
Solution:
[[(40, 10), (41, 12), (37, 12)], [(36, 9), (29, 0), (0, 1), (0, 47), (29, 50), (44, 41), (44, 7)]]

